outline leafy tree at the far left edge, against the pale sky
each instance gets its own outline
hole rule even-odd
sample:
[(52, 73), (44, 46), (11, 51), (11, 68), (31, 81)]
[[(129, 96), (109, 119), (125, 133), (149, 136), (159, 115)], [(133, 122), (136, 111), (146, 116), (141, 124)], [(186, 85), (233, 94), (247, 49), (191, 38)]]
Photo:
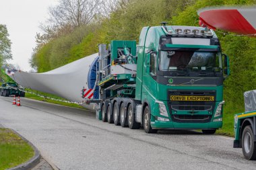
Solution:
[(6, 60), (12, 59), (11, 40), (5, 25), (0, 24), (0, 64)]

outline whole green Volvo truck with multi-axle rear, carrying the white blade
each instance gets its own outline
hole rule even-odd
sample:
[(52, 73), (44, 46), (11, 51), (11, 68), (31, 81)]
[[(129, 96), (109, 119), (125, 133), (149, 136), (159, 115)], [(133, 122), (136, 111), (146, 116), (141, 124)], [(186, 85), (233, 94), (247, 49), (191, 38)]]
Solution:
[[(99, 45), (98, 119), (146, 133), (158, 129), (222, 127), (223, 81), (229, 75), (213, 30), (190, 26), (144, 27), (139, 43)], [(83, 95), (86, 95), (83, 93)]]

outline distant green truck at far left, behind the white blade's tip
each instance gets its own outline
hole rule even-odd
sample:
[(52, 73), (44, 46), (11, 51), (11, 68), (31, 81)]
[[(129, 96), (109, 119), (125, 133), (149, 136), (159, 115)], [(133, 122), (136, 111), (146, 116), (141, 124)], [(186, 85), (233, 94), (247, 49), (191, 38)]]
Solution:
[(18, 84), (11, 79), (5, 71), (9, 71), (5, 67), (1, 69), (2, 77), (4, 75), (5, 79), (1, 78), (1, 87), (0, 87), (0, 95), (9, 97), (10, 95), (25, 97), (25, 92), (20, 91), (18, 88)]

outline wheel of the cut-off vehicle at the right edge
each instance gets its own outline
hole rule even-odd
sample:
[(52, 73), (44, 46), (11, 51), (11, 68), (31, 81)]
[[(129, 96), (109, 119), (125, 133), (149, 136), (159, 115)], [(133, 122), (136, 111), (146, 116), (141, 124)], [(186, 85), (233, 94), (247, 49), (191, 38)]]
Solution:
[(245, 126), (242, 135), (243, 154), (248, 160), (256, 160), (256, 142), (253, 141), (251, 126)]

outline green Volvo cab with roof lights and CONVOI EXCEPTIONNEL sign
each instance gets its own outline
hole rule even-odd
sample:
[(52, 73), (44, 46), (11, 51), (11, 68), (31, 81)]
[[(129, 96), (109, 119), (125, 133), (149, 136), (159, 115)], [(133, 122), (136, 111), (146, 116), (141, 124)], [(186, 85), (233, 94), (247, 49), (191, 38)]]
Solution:
[(135, 99), (141, 122), (154, 129), (222, 127), (223, 81), (228, 57), (212, 30), (189, 26), (145, 27), (139, 37)]

